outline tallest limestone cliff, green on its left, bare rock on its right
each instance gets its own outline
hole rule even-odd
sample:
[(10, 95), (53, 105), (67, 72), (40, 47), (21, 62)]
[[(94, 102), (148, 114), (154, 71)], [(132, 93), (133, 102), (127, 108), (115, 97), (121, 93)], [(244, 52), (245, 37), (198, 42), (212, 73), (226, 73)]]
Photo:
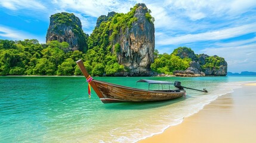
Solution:
[(150, 12), (145, 4), (136, 4), (126, 14), (111, 12), (98, 17), (85, 55), (92, 75), (153, 74), (150, 64), (155, 50), (155, 28)]

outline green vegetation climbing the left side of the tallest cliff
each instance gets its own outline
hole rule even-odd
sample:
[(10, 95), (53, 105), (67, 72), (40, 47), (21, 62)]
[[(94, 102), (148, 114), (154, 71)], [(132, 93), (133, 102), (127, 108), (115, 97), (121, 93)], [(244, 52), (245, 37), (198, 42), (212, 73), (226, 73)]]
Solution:
[(121, 45), (115, 42), (115, 38), (137, 21), (134, 17), (137, 8), (135, 5), (127, 14), (115, 13), (108, 20), (98, 20), (101, 21), (98, 23), (100, 26), (95, 27), (88, 39), (88, 51), (85, 55), (88, 66), (92, 68), (92, 75), (101, 76), (106, 73), (107, 76), (112, 76), (128, 70), (118, 63), (117, 53), (121, 52)]

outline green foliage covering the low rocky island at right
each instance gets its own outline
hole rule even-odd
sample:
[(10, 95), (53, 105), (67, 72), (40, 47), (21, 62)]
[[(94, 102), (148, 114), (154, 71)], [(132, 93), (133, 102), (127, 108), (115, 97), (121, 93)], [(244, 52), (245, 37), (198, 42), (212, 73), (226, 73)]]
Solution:
[[(177, 55), (183, 55), (181, 58)], [(158, 50), (155, 50), (155, 62), (151, 64), (151, 69), (157, 73), (172, 74), (175, 70), (186, 70), (190, 66), (191, 61), (199, 61), (202, 71), (205, 69), (220, 69), (220, 66), (225, 64), (224, 58), (218, 57), (217, 55), (208, 56), (205, 59), (200, 59), (201, 55), (197, 55), (191, 48), (186, 46), (174, 49), (172, 54), (159, 54)], [(193, 57), (192, 58), (189, 58)]]

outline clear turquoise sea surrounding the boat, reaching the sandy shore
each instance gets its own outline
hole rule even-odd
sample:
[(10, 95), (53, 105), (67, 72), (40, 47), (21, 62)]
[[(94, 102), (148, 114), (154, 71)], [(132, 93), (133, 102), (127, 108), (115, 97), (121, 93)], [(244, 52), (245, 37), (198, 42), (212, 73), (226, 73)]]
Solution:
[(0, 77), (0, 142), (136, 142), (181, 123), (242, 83), (256, 82), (256, 76), (94, 79), (142, 89), (147, 83), (135, 81), (178, 80), (209, 93), (187, 89), (186, 97), (171, 101), (103, 104), (93, 90), (88, 98), (85, 77)]

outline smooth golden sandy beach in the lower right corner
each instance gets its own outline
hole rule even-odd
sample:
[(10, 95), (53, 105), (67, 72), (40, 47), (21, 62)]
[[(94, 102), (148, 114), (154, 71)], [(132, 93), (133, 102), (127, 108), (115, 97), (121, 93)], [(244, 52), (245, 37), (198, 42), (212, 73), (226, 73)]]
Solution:
[(223, 95), (177, 126), (138, 141), (256, 142), (256, 83)]

